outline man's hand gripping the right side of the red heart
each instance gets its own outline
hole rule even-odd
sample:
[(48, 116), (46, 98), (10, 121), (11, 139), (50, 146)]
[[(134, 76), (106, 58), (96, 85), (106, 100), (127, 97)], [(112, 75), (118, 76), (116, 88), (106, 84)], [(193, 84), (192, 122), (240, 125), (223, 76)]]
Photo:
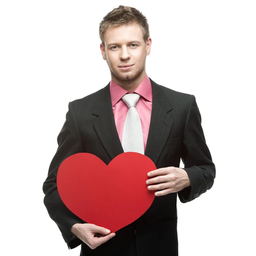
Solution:
[[(148, 172), (148, 177), (153, 177), (146, 181), (148, 190), (163, 189), (162, 191), (155, 192), (156, 196), (167, 195), (169, 193), (178, 192), (188, 186), (191, 186), (189, 176), (186, 171), (177, 167), (160, 168), (151, 172)], [(154, 183), (160, 183), (157, 185), (151, 185)]]

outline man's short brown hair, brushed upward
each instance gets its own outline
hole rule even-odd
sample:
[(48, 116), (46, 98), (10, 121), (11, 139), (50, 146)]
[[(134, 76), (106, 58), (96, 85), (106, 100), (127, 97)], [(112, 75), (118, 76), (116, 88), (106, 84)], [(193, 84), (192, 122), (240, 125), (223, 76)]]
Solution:
[(146, 42), (149, 38), (149, 26), (147, 18), (142, 12), (130, 6), (119, 5), (118, 8), (109, 12), (99, 23), (99, 38), (105, 47), (104, 35), (108, 28), (130, 25), (137, 23), (143, 31), (143, 39)]

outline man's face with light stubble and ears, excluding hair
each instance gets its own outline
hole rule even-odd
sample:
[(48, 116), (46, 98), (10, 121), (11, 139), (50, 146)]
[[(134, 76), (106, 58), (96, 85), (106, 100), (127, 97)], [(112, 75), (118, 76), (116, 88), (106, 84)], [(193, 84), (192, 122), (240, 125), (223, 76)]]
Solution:
[[(102, 57), (107, 61), (111, 77), (117, 82), (145, 77), (145, 61), (151, 48), (151, 38), (145, 43), (140, 26), (135, 23), (107, 29)], [(131, 65), (122, 68), (121, 65)]]

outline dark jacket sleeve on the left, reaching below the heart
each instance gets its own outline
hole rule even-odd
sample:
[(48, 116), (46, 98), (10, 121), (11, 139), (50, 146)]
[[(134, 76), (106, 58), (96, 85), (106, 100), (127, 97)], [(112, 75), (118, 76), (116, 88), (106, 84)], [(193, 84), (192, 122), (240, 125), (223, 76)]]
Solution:
[(71, 232), (76, 223), (85, 223), (71, 212), (61, 201), (57, 190), (57, 172), (60, 164), (69, 156), (83, 152), (79, 128), (73, 112), (72, 103), (68, 105), (66, 121), (57, 137), (58, 149), (50, 163), (48, 176), (43, 184), (44, 205), (50, 218), (57, 224), (69, 249), (79, 246), (82, 241)]

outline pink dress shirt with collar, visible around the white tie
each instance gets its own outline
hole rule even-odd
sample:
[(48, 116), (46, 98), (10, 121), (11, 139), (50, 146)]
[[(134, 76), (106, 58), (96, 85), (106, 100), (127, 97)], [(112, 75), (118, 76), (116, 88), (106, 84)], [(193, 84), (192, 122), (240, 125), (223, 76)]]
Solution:
[[(125, 118), (128, 112), (128, 107), (121, 99), (126, 93), (130, 93), (123, 89), (120, 85), (116, 84), (112, 79), (110, 82), (110, 95), (112, 108), (114, 113), (114, 119), (116, 123), (116, 129), (119, 135), (119, 140), (122, 143), (122, 131), (125, 123)], [(152, 111), (152, 85), (147, 74), (139, 86), (131, 93), (140, 94), (140, 99), (137, 102), (135, 108), (140, 116), (140, 121), (142, 125), (143, 141), (144, 141), (144, 151), (146, 148), (148, 140), (148, 131), (151, 120)]]

